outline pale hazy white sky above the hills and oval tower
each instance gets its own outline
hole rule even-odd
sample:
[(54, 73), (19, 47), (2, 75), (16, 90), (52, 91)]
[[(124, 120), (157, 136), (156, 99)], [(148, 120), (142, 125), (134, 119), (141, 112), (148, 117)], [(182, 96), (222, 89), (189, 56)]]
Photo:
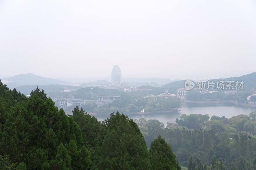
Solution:
[(256, 72), (255, 0), (0, 0), (0, 77)]

